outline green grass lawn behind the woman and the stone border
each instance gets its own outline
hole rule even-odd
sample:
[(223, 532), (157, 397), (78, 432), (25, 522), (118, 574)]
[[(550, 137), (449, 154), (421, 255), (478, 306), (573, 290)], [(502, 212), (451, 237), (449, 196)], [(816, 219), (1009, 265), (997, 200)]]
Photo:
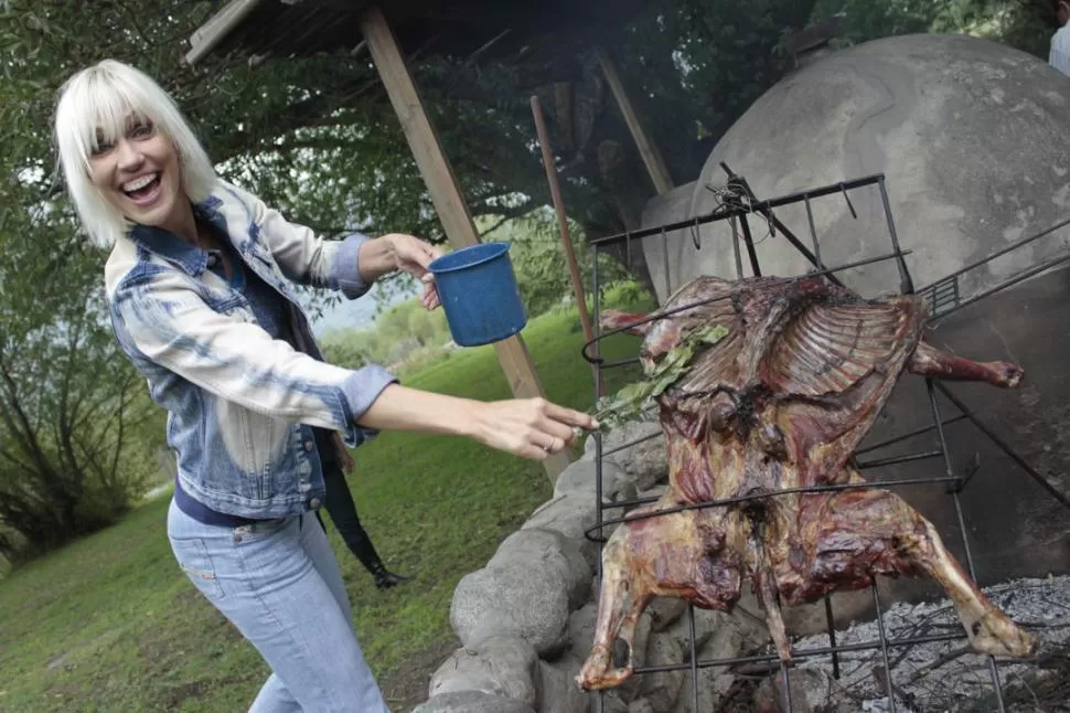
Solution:
[[(590, 366), (575, 311), (533, 320), (528, 350), (556, 402), (588, 409)], [(603, 352), (634, 353), (616, 337)], [(610, 386), (629, 375), (616, 370)], [(481, 400), (510, 391), (492, 347), (461, 350), (405, 380)], [(379, 680), (452, 639), (453, 588), (550, 494), (542, 466), (477, 444), (384, 434), (354, 454), (350, 485), (387, 565), (414, 575), (381, 593), (328, 520), (365, 655)], [(181, 575), (168, 498), (0, 581), (0, 711), (245, 710), (268, 674), (259, 656)]]

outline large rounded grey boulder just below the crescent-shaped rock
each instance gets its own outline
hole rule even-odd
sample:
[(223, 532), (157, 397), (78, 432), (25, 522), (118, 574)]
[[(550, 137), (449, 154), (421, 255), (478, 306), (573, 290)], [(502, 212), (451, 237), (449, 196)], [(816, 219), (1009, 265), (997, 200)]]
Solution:
[(450, 625), (466, 647), (493, 636), (516, 636), (548, 656), (567, 646), (568, 613), (568, 583), (559, 571), (505, 562), (461, 578)]

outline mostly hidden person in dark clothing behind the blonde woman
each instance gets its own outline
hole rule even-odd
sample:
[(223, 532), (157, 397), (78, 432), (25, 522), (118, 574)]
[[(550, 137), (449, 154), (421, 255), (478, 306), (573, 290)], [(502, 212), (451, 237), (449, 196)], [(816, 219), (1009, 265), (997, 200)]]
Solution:
[[(317, 429), (317, 438), (336, 438), (336, 435), (328, 436), (325, 432)], [(345, 481), (345, 473), (353, 470), (353, 459), (341, 444), (338, 444), (336, 448), (329, 447), (329, 443), (323, 443), (320, 446), (320, 453), (330, 454), (323, 458), (323, 480), (327, 485), (324, 504), (328, 514), (331, 515), (331, 522), (334, 523), (339, 534), (342, 535), (345, 546), (372, 574), (376, 587), (388, 589), (403, 582), (408, 582), (408, 577), (394, 574), (386, 568), (375, 551), (375, 545), (372, 544), (372, 539), (367, 536), (367, 531), (361, 524), (356, 503), (353, 501), (353, 493), (350, 492), (350, 485)], [(334, 454), (342, 454), (342, 459), (339, 460)], [(323, 524), (322, 519), (320, 519), (320, 524)]]

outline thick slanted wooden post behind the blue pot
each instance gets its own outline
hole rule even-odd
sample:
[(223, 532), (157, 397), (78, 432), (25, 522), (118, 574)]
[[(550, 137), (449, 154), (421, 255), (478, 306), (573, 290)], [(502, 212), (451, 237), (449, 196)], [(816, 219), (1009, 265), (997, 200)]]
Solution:
[[(438, 131), (424, 108), (424, 100), (397, 45), (397, 39), (379, 8), (372, 7), (361, 15), (361, 32), (390, 97), (390, 104), (394, 105), (394, 111), (405, 131), (405, 138), (427, 184), (447, 238), (454, 247), (479, 243), (479, 231), (461, 194), (453, 168), (442, 150)], [(520, 334), (496, 342), (494, 349), (510, 389), (516, 397), (546, 395)], [(556, 483), (557, 476), (570, 461), (565, 453), (550, 456), (544, 461), (550, 483)]]

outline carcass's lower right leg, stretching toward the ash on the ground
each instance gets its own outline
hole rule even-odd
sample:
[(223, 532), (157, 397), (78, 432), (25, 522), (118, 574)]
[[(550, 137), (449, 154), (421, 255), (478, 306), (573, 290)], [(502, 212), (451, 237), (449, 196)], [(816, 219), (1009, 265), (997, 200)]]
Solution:
[[(860, 477), (855, 473), (853, 480)], [(1006, 657), (1034, 652), (1032, 636), (981, 593), (932, 523), (905, 500), (882, 490), (807, 498), (825, 499), (823, 507), (804, 510), (812, 519), (804, 532), (813, 533), (816, 543), (811, 570), (814, 584), (859, 587), (868, 586), (877, 574), (923, 573), (948, 593), (975, 650)]]

